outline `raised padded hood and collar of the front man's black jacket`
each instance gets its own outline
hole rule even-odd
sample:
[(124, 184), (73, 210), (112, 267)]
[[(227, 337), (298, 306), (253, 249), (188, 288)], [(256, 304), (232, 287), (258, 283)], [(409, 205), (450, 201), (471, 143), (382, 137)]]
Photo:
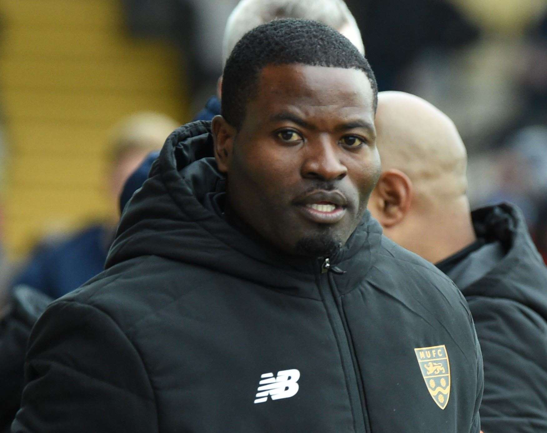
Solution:
[[(203, 205), (206, 195), (222, 192), (224, 184), (213, 158), (211, 122), (198, 120), (173, 131), (125, 207), (106, 268), (154, 255), (276, 287), (294, 288), (302, 278), (315, 278), (322, 261), (278, 253)], [(346, 245), (330, 257), (346, 271), (348, 285), (373, 264), (380, 239), (380, 225), (367, 211)]]

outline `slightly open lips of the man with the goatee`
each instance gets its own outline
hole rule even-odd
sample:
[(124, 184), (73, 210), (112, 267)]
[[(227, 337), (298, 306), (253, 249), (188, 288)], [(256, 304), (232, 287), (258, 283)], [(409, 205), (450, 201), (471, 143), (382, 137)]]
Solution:
[(334, 224), (344, 217), (347, 200), (338, 191), (316, 191), (295, 200), (294, 204), (307, 220)]

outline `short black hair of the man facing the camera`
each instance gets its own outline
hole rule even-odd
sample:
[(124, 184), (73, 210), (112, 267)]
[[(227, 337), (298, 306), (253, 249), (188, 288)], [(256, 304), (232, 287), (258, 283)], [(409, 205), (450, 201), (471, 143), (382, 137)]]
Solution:
[(238, 131), (246, 106), (258, 91), (260, 71), (268, 65), (325, 66), (363, 71), (378, 87), (369, 62), (333, 28), (318, 21), (282, 19), (253, 28), (236, 44), (226, 61), (222, 84), (222, 116)]

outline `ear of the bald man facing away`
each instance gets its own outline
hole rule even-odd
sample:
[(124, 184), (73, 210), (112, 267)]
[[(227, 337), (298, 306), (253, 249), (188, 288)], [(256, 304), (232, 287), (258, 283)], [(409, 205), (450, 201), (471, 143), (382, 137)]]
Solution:
[(383, 171), (372, 194), (368, 209), (384, 228), (403, 221), (412, 201), (412, 182), (402, 171)]

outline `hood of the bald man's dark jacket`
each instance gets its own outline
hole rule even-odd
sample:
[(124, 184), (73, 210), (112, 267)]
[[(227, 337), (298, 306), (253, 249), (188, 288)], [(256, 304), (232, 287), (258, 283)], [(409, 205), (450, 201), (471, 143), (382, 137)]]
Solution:
[(503, 203), (472, 212), (478, 237), (499, 241), (504, 257), (483, 278), (461, 287), (465, 297), (507, 298), (547, 318), (547, 268), (517, 207)]

